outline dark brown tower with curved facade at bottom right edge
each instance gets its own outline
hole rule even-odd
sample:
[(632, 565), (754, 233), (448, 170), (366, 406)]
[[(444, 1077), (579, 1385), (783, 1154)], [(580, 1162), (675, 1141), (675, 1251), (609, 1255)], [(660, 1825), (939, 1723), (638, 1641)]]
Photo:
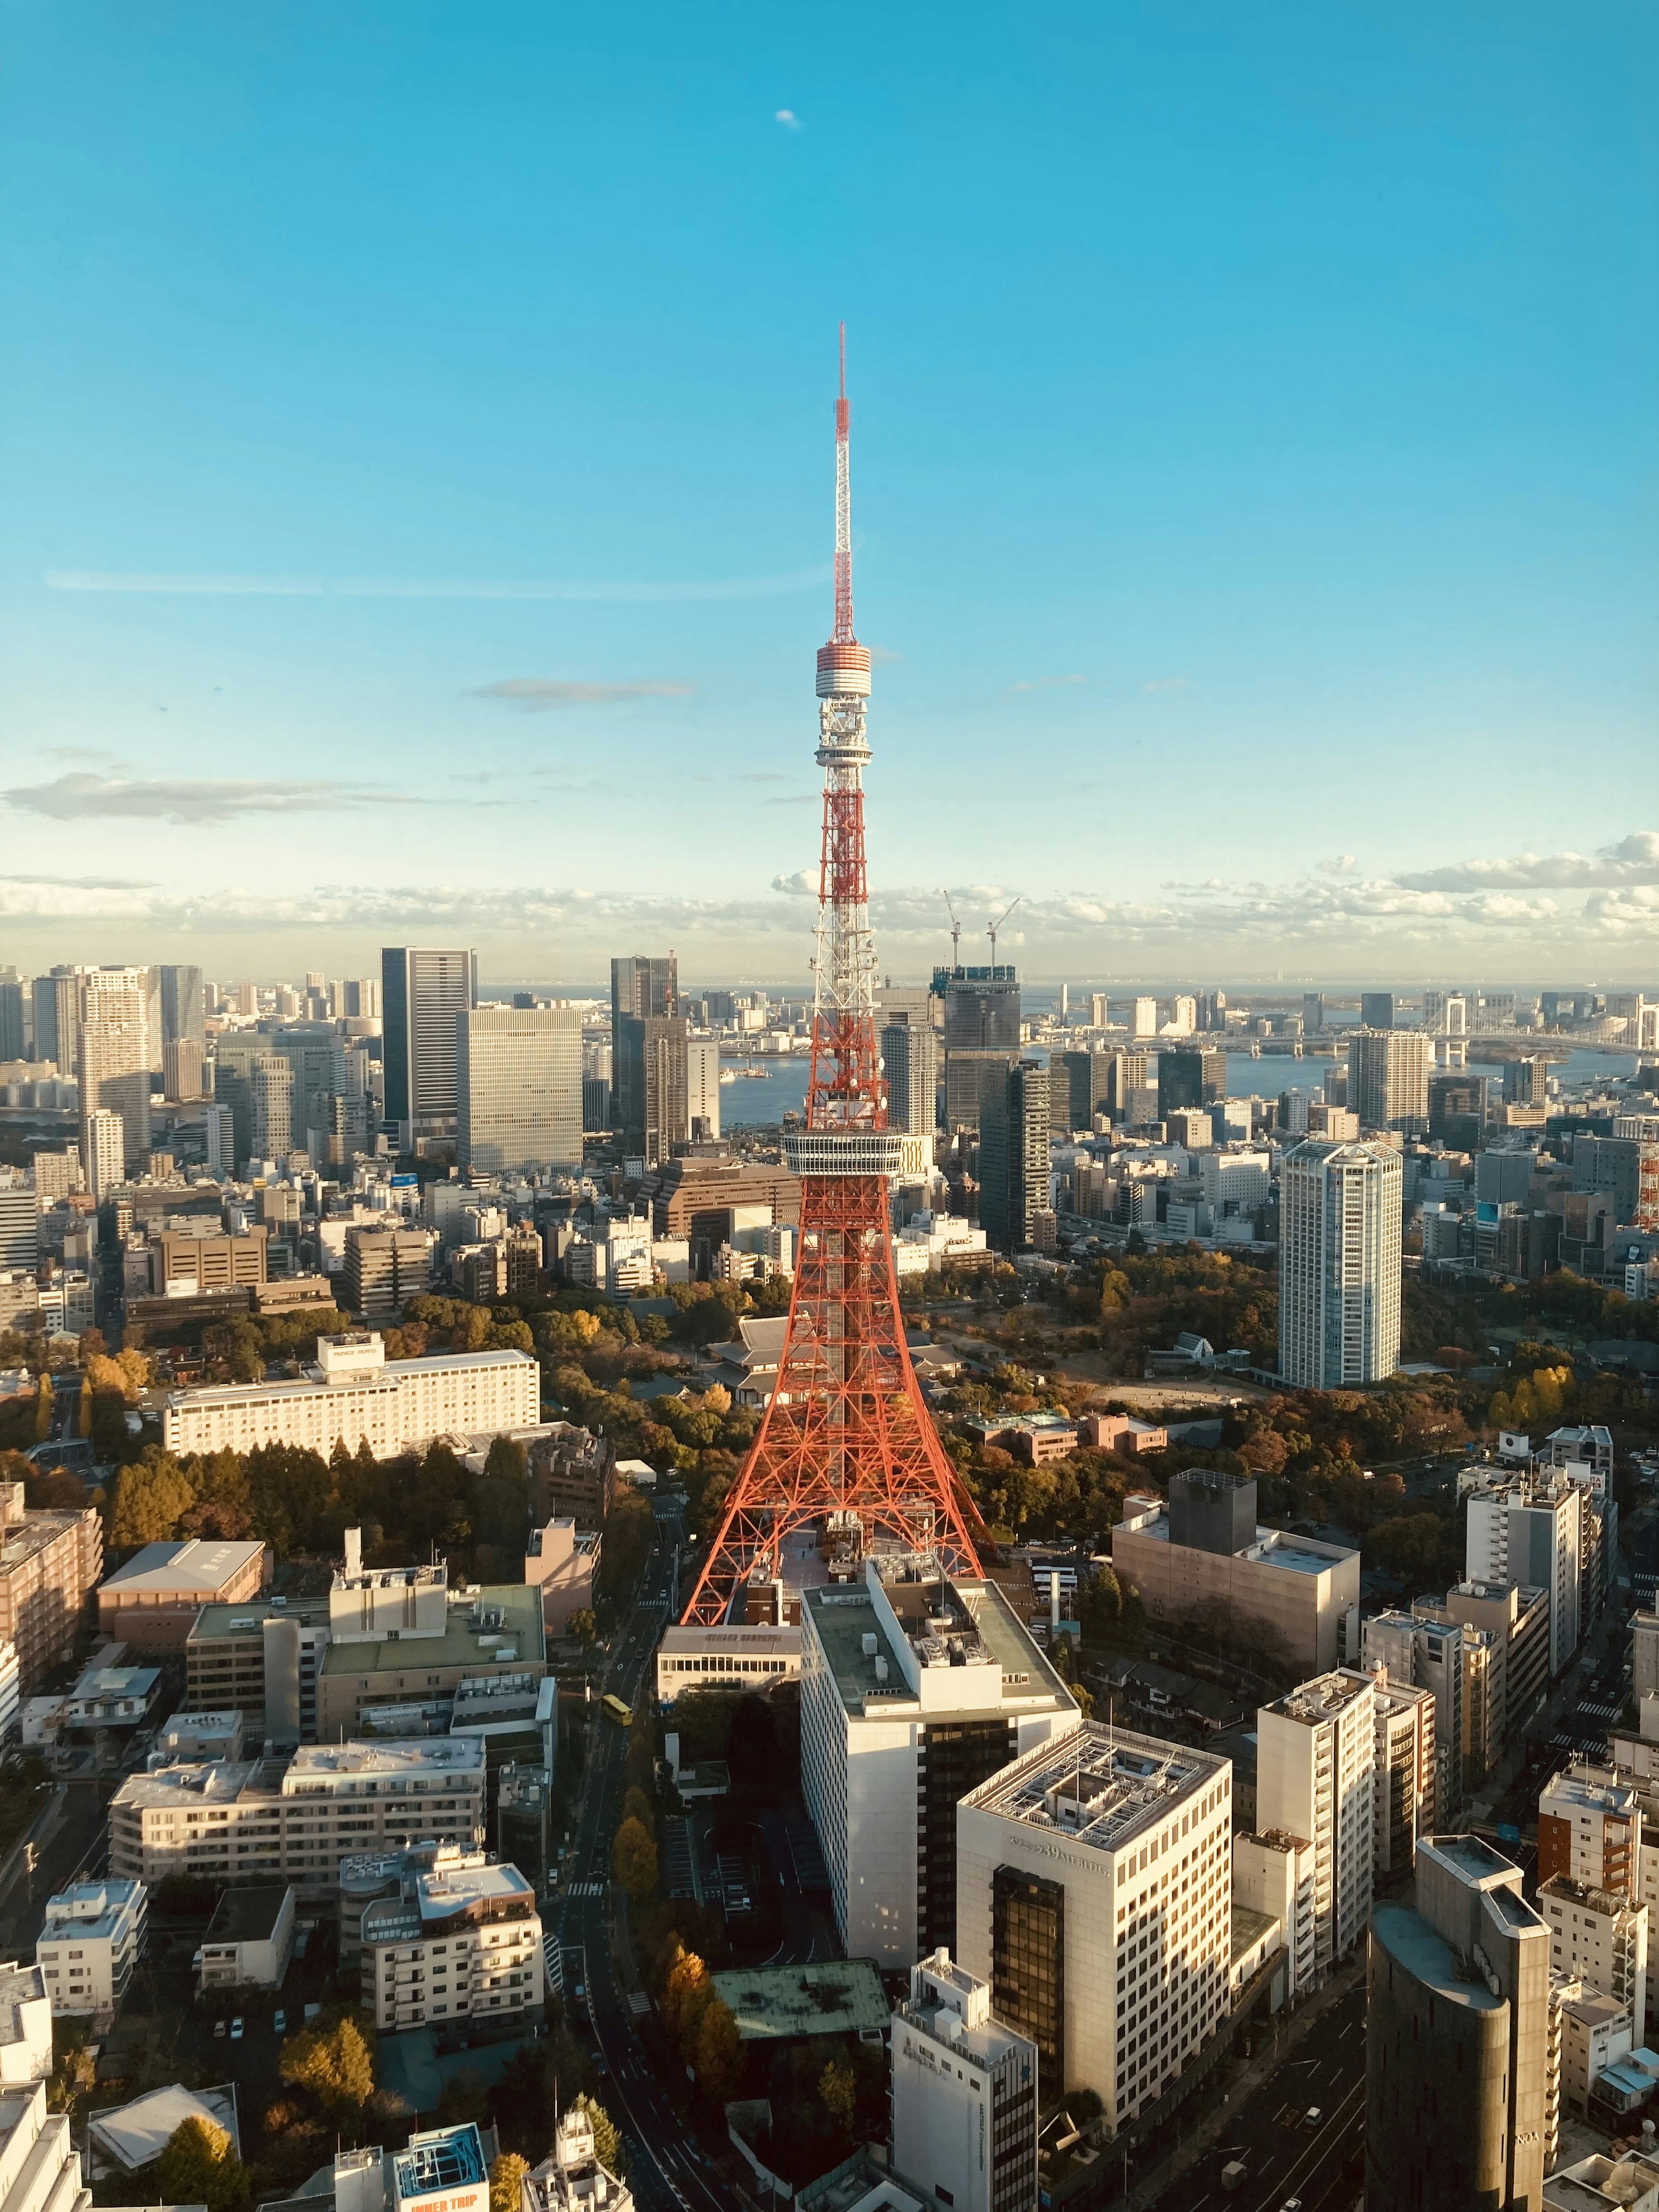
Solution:
[(1520, 1867), (1478, 1836), (1418, 1843), (1416, 1911), (1371, 1916), (1367, 2205), (1542, 2212), (1548, 1984)]

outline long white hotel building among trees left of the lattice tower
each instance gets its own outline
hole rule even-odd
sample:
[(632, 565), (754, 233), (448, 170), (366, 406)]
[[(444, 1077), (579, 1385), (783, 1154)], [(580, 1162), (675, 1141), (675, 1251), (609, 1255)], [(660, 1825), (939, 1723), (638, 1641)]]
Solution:
[(374, 1329), (319, 1336), (299, 1383), (223, 1383), (168, 1394), (168, 1451), (303, 1444), (327, 1458), (367, 1442), (376, 1460), (422, 1451), (434, 1436), (487, 1436), (542, 1418), (542, 1367), (529, 1352), (440, 1352), (392, 1360)]

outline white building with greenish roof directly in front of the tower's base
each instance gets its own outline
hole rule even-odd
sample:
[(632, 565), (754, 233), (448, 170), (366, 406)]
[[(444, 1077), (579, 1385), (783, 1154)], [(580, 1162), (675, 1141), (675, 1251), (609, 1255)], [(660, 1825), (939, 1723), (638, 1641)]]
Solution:
[(869, 1559), (860, 1586), (801, 1593), (801, 1792), (847, 1958), (956, 1949), (958, 1801), (1077, 1725), (993, 1582)]

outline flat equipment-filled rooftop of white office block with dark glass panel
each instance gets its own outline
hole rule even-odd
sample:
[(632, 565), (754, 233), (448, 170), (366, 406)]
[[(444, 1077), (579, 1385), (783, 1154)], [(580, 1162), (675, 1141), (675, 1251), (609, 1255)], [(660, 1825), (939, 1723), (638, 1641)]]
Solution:
[(1121, 1851), (1228, 1770), (1230, 1761), (1212, 1752), (1084, 1721), (1015, 1759), (962, 1803), (1095, 1851)]

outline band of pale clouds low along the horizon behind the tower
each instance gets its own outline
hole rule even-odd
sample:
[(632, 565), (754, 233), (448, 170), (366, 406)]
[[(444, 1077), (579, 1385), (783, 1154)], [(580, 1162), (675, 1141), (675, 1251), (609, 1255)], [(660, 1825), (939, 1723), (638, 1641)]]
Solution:
[[(60, 812), (66, 783), (13, 790), (11, 807)], [(113, 779), (106, 779), (113, 781)], [(170, 792), (170, 787), (166, 787)], [(307, 805), (356, 803), (310, 785), (197, 785), (148, 812), (192, 805), (188, 821), (221, 821), (228, 812), (285, 814)], [(1259, 975), (1283, 964), (1327, 973), (1385, 964), (1405, 973), (1413, 958), (1433, 973), (1469, 967), (1495, 978), (1566, 975), (1586, 962), (1641, 967), (1659, 951), (1659, 832), (1639, 830), (1593, 854), (1520, 854), (1469, 858), (1438, 869), (1371, 876), (1321, 863), (1292, 883), (1166, 883), (1152, 898), (1113, 898), (1077, 887), (1024, 894), (1018, 960), (1035, 975), (1217, 973)], [(1018, 883), (953, 887), (973, 936), (978, 909), (1006, 902)], [(248, 887), (181, 891), (128, 878), (44, 880), (38, 872), (0, 874), (0, 920), (13, 933), (60, 938), (71, 927), (108, 942), (137, 936), (146, 947), (168, 938), (226, 940), (250, 949), (268, 940), (276, 958), (305, 938), (372, 942), (387, 936), (447, 936), (513, 949), (551, 973), (577, 973), (630, 945), (672, 942), (688, 971), (714, 973), (774, 962), (772, 973), (805, 971), (816, 867), (781, 869), (768, 887), (730, 896), (633, 894), (593, 887), (502, 885), (319, 885), (272, 896)], [(876, 891), (872, 922), (883, 967), (927, 967), (942, 958), (942, 900), (931, 887)]]

